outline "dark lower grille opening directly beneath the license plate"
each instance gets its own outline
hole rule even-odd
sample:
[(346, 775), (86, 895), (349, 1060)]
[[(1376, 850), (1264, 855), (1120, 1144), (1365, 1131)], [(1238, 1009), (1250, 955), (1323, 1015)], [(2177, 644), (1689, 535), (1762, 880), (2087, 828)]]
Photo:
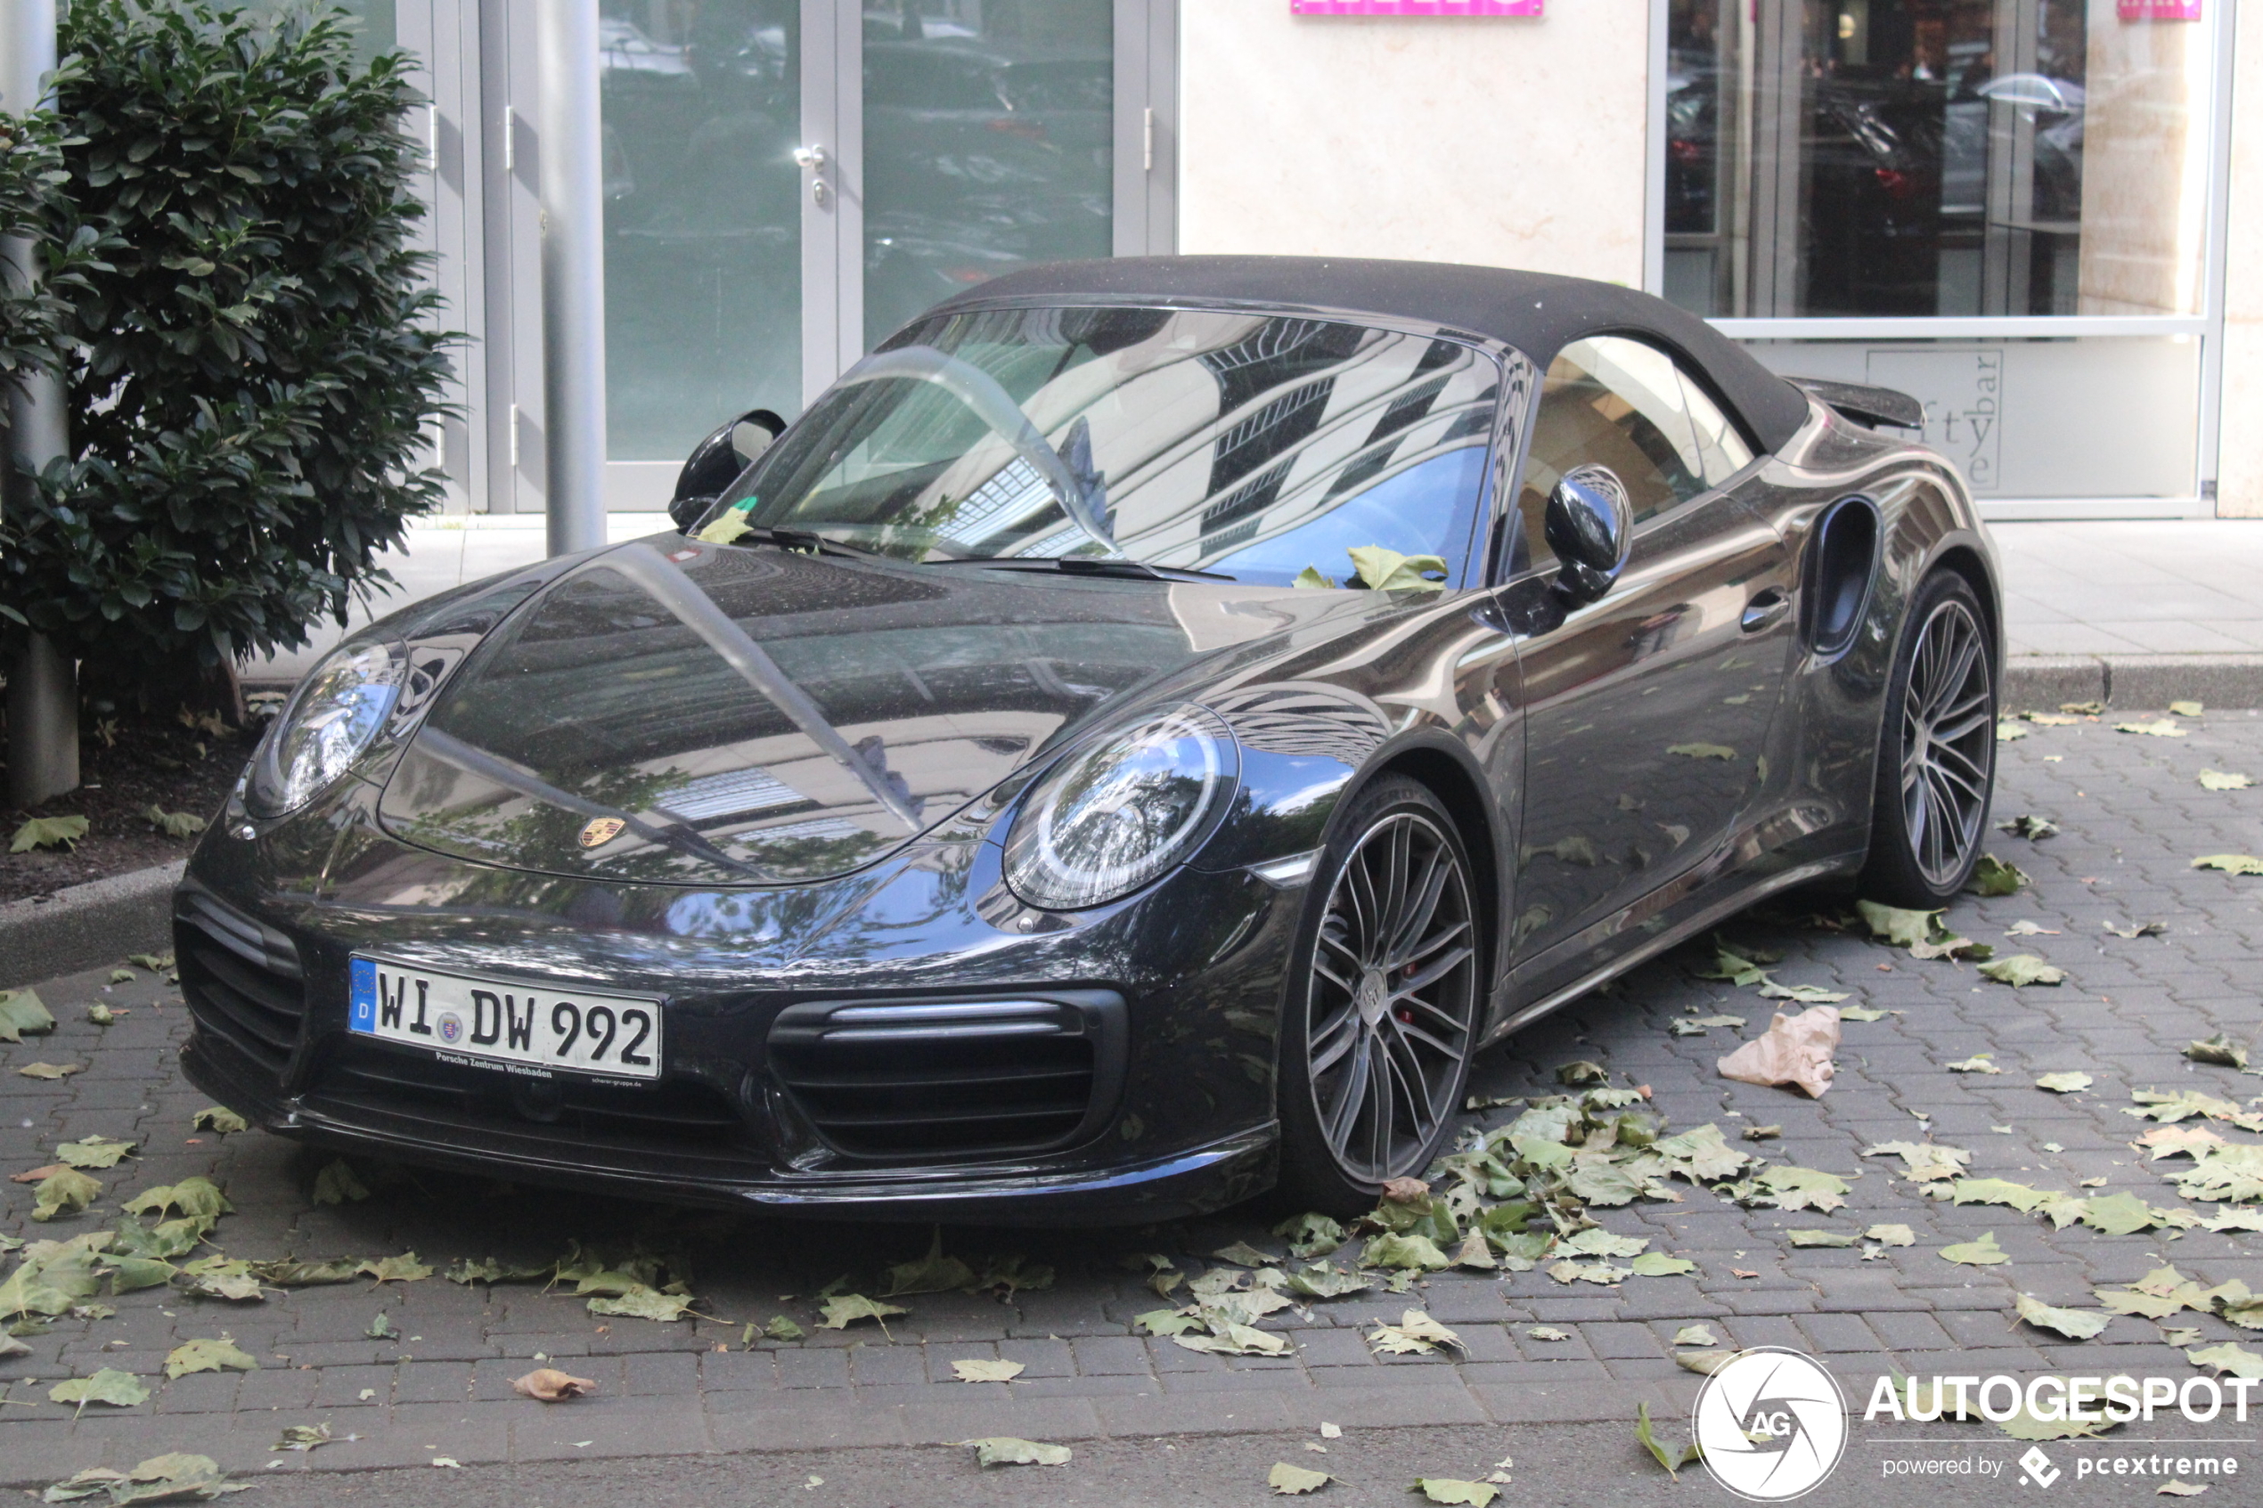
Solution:
[(575, 1078), (507, 1078), (362, 1045), (342, 1045), (312, 1087), (312, 1101), (346, 1112), (389, 1110), (498, 1126), (525, 1135), (559, 1135), (618, 1146), (735, 1146), (747, 1137), (738, 1106), (697, 1081), (649, 1087)]

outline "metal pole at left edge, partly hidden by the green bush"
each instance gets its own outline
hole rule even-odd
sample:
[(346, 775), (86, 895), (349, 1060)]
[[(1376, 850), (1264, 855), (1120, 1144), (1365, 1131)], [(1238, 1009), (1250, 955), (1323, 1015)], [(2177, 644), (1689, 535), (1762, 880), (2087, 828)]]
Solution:
[[(0, 111), (25, 115), (48, 104), (54, 72), (54, 0), (0, 0)], [(38, 253), (29, 240), (0, 242), (7, 276), (38, 280)], [(63, 425), (59, 378), (27, 375), (7, 393), (7, 473), (0, 506), (18, 509), (25, 497), (23, 470), (43, 470), (70, 448)], [(50, 796), (79, 787), (79, 685), (77, 667), (43, 633), (18, 633), (7, 676), (7, 785), (9, 800), (36, 807)]]

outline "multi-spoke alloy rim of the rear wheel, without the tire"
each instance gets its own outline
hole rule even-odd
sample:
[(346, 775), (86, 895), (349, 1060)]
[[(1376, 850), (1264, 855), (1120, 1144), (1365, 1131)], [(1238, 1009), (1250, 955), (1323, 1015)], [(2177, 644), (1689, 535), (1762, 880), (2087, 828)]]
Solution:
[(1901, 809), (1910, 857), (1935, 886), (1964, 875), (1996, 762), (1996, 687), (1971, 608), (1944, 601), (1919, 629), (1901, 699)]

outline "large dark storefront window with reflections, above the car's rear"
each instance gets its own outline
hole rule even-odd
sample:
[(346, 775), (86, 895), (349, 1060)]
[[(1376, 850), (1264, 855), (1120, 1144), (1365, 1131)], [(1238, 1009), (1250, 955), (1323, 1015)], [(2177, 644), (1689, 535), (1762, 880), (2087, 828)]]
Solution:
[(1666, 294), (2200, 314), (2211, 36), (2116, 0), (1672, 0)]

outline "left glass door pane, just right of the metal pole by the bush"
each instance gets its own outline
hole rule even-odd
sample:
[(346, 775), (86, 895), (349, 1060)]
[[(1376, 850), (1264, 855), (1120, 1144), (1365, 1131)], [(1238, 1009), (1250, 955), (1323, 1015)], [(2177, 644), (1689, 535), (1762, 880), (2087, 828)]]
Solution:
[(801, 409), (801, 0), (604, 0), (604, 359), (616, 461)]

